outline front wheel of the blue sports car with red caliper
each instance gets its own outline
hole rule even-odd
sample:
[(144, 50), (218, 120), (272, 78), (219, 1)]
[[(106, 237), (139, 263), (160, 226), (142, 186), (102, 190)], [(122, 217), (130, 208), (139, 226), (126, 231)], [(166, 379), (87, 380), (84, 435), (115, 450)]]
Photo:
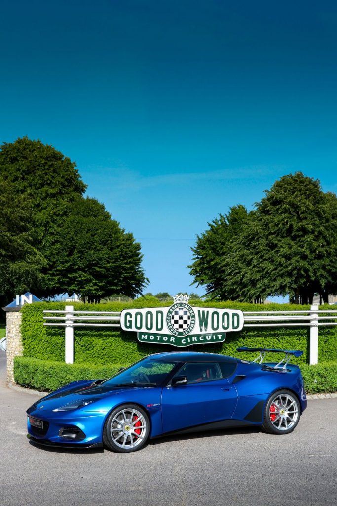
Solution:
[(103, 429), (103, 443), (110, 450), (129, 453), (140, 450), (150, 434), (150, 420), (137, 404), (122, 404), (109, 414)]

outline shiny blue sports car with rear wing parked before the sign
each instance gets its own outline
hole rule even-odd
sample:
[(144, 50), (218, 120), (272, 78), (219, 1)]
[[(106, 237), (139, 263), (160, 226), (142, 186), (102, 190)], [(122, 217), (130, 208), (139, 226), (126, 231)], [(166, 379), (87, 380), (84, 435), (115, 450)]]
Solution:
[[(139, 450), (149, 438), (227, 427), (262, 426), (287, 434), (307, 406), (291, 356), (257, 351), (254, 362), (213, 353), (168, 352), (143, 358), (109, 379), (78, 381), (28, 410), (28, 438), (49, 446)], [(285, 353), (263, 363), (267, 351)]]

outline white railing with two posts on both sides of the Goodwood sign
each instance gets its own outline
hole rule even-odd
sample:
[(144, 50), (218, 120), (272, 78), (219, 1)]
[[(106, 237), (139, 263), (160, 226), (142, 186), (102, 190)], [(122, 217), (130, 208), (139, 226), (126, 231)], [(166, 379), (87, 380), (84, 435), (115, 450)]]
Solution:
[[(45, 310), (43, 313), (47, 315), (43, 316), (44, 320), (51, 320), (43, 325), (65, 327), (65, 358), (68, 364), (74, 362), (74, 327), (120, 327), (118, 311), (74, 311), (73, 306), (66, 306), (62, 311)], [(310, 364), (318, 362), (318, 327), (337, 325), (337, 309), (319, 310), (318, 306), (301, 311), (244, 311), (244, 316), (244, 328), (309, 327)]]

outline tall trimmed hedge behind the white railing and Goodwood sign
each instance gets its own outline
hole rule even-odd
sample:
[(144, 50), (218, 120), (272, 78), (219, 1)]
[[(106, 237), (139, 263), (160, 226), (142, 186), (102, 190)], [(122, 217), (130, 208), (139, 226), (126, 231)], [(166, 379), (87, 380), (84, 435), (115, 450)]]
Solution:
[[(309, 306), (290, 304), (255, 305), (234, 302), (190, 301), (193, 306), (240, 309), (242, 311), (296, 311), (309, 309)], [(133, 302), (113, 302), (98, 305), (75, 303), (74, 309), (81, 311), (121, 311), (127, 308), (170, 306), (171, 302), (160, 302), (153, 297), (143, 297)], [(329, 309), (329, 306), (322, 306)], [(64, 327), (43, 326), (44, 309), (65, 309), (65, 303), (38, 303), (25, 305), (22, 309), (22, 344), (25, 357), (40, 360), (65, 360)], [(337, 326), (319, 327), (318, 361), (337, 360)], [(236, 348), (271, 347), (303, 350), (302, 357), (294, 359), (296, 364), (309, 361), (308, 327), (267, 327), (245, 328), (240, 332), (228, 332), (226, 341), (219, 344), (197, 345), (183, 348), (186, 351), (214, 352), (224, 355), (236, 355)], [(134, 332), (112, 330), (107, 327), (75, 327), (74, 360), (79, 363), (112, 364), (132, 363), (139, 358), (158, 352), (174, 351), (172, 346), (139, 343)], [(242, 353), (240, 358), (252, 359), (252, 354)], [(275, 355), (269, 354), (266, 360), (274, 361)]]

